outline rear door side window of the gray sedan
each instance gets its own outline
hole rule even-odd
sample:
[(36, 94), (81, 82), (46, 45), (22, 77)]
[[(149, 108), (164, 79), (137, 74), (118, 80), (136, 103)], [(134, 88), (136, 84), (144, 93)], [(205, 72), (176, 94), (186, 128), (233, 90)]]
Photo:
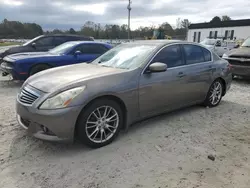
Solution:
[(200, 46), (184, 44), (183, 49), (188, 65), (205, 62), (204, 54)]

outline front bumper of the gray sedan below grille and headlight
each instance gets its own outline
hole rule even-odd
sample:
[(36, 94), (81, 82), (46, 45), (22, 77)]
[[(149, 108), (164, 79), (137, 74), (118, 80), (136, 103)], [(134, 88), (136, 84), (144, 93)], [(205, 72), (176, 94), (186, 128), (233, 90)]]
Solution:
[(73, 142), (75, 124), (81, 107), (57, 110), (38, 110), (25, 106), (17, 99), (16, 112), (18, 123), (28, 134), (42, 140)]

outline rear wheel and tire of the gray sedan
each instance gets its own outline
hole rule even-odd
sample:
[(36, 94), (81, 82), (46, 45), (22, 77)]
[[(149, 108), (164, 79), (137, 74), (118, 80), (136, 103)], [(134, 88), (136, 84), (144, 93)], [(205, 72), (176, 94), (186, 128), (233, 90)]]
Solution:
[(221, 80), (215, 80), (208, 90), (204, 105), (209, 107), (217, 106), (222, 99), (223, 87)]

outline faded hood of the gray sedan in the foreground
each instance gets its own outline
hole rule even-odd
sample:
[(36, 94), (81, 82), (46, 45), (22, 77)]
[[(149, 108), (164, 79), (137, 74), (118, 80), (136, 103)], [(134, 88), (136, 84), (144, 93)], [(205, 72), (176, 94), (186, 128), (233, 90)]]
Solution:
[(127, 70), (82, 63), (39, 72), (31, 76), (25, 84), (29, 84), (43, 92), (53, 92), (63, 88), (74, 87), (79, 82), (125, 71)]

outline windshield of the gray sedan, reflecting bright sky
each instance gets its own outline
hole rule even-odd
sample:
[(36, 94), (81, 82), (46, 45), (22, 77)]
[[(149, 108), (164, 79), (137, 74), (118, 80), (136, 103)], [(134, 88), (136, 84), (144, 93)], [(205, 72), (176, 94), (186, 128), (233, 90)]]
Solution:
[(92, 63), (105, 67), (135, 69), (143, 63), (143, 60), (147, 58), (156, 47), (157, 45), (153, 44), (121, 44), (109, 50)]

